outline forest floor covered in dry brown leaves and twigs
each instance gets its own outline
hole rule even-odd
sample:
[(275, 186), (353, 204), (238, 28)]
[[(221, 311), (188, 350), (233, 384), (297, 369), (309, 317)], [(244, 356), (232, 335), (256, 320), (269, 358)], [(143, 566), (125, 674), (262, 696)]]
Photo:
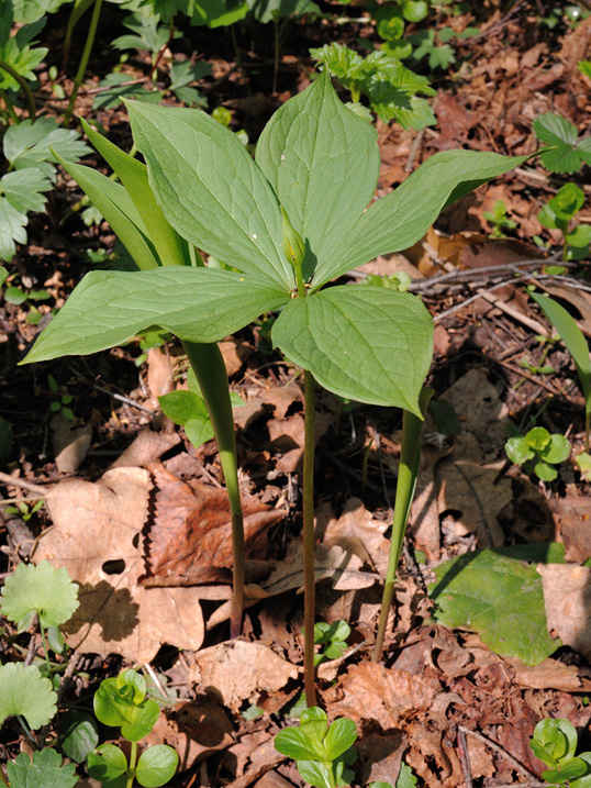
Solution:
[[(478, 24), (480, 34), (462, 42), (453, 68), (430, 75), (437, 125), (416, 132), (378, 121), (378, 196), (438, 151), (533, 153), (538, 143), (532, 122), (544, 112), (564, 115), (580, 133), (591, 127), (591, 80), (577, 68), (590, 57), (591, 18), (575, 29), (561, 22), (550, 30), (539, 23), (539, 7), (549, 13), (548, 3), (481, 5), (451, 20), (458, 32)], [(63, 31), (55, 26), (58, 46)], [(94, 84), (113, 65), (107, 36), (103, 30), (90, 63)], [(245, 129), (254, 144), (272, 112), (310, 84), (309, 47), (372, 36), (369, 24), (290, 23), (276, 74), (269, 41), (260, 32), (252, 38), (246, 27), (237, 29), (239, 64), (225, 29), (193, 29), (179, 46), (213, 65), (201, 86), (210, 111), (230, 109), (232, 127)], [(138, 53), (126, 68), (136, 78), (149, 63)], [(92, 85), (87, 77), (77, 114), (100, 123), (129, 149), (126, 114), (92, 110)], [(67, 93), (67, 81), (64, 87)], [(63, 108), (51, 97), (46, 74), (38, 96), (46, 97), (44, 114)], [(98, 155), (89, 162), (108, 171)], [(584, 448), (584, 400), (568, 351), (556, 342), (548, 352), (538, 338), (550, 328), (527, 293), (535, 281), (591, 335), (589, 260), (569, 262), (558, 276), (548, 273), (560, 236), (537, 219), (560, 186), (577, 182), (587, 198), (578, 218), (591, 222), (588, 176), (589, 168), (553, 175), (531, 159), (446, 209), (411, 249), (343, 278), (410, 275), (410, 290), (421, 295), (435, 321), (427, 385), (436, 400), (451, 406), (426, 419), (397, 604), (382, 659), (373, 663), (401, 415), (319, 392), (316, 620), (345, 620), (352, 628), (343, 656), (319, 668), (319, 700), (331, 719), (344, 715), (357, 724), (355, 785), (394, 785), (401, 761), (428, 788), (542, 785), (536, 780), (543, 765), (528, 746), (539, 720), (568, 719), (583, 748), (591, 740), (584, 733), (591, 720), (591, 570), (582, 566), (591, 557), (590, 481), (575, 463)], [(113, 254), (115, 237), (107, 223), (87, 227), (68, 211), (79, 199), (77, 185), (62, 171), (47, 214), (35, 214), (29, 244), (9, 266), (9, 284), (51, 295), (37, 304), (42, 314), (64, 303), (92, 260)], [(498, 200), (516, 223), (505, 230), (508, 237), (490, 237), (493, 227), (483, 218)], [(550, 241), (550, 248), (537, 246), (535, 235)], [(145, 347), (140, 359), (144, 349), (132, 342), (93, 356), (16, 366), (40, 331), (27, 321), (31, 309), (30, 300), (0, 301), (1, 414), (13, 435), (0, 489), (13, 506), (24, 506), (2, 514), (2, 570), (12, 571), (34, 547), (35, 561), (62, 563), (81, 587), (81, 606), (64, 628), (74, 651), (63, 709), (90, 711), (103, 678), (123, 666), (147, 665), (176, 697), (150, 734), (150, 741), (179, 752), (181, 772), (170, 785), (301, 785), (293, 762), (272, 746), (302, 691), (301, 370), (271, 349), (268, 321), (221, 345), (232, 389), (246, 402), (235, 419), (252, 574), (244, 635), (231, 642), (230, 515), (215, 444), (194, 450), (157, 399), (183, 385), (180, 347), (166, 340)], [(521, 364), (524, 358), (528, 366)], [(539, 374), (547, 364), (554, 371)], [(63, 397), (71, 398), (74, 420), (63, 409), (51, 410)], [(536, 424), (570, 440), (570, 459), (554, 481), (529, 478), (510, 463), (508, 424), (518, 434)], [(40, 499), (45, 506), (33, 512)], [(211, 539), (216, 529), (219, 537)], [(189, 537), (194, 552), (159, 585), (158, 550), (180, 552)], [(545, 564), (535, 550), (524, 553), (539, 568), (545, 608), (518, 611), (548, 621), (562, 643), (554, 653), (524, 657), (536, 644), (520, 641), (518, 615), (510, 626), (517, 642), (513, 654), (522, 658), (503, 652), (502, 644), (494, 647), (491, 631), (518, 607), (511, 595), (494, 597), (494, 588), (495, 609), (486, 625), (470, 626), (467, 618), (454, 628), (436, 619), (433, 585), (442, 580), (435, 575), (442, 562), (553, 542), (565, 544), (568, 563)], [(27, 650), (33, 659), (38, 636), (15, 635), (5, 620), (2, 626), (3, 661)], [(47, 741), (53, 740), (52, 730)], [(27, 746), (19, 725), (7, 722), (0, 761)], [(79, 774), (80, 785), (97, 785), (83, 766)]]

